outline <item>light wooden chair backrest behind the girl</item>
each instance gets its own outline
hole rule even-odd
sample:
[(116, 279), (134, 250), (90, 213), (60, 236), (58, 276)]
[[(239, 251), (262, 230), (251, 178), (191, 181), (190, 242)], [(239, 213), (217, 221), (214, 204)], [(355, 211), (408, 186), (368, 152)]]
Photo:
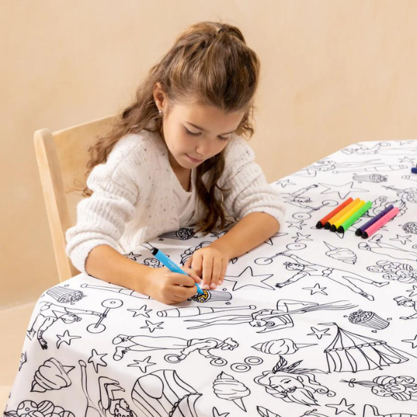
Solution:
[(83, 198), (88, 148), (111, 129), (115, 116), (61, 131), (35, 131), (35, 153), (47, 206), (59, 280), (79, 274), (65, 254), (65, 231), (76, 223), (76, 204)]

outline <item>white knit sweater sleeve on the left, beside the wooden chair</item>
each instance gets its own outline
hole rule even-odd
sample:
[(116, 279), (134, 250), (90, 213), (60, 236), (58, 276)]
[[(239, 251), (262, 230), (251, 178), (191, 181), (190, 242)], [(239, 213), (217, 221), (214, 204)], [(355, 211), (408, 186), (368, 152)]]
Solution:
[(66, 253), (74, 266), (83, 273), (85, 261), (98, 245), (109, 245), (121, 252), (122, 237), (135, 213), (138, 185), (133, 179), (133, 167), (123, 152), (115, 152), (106, 163), (96, 165), (87, 179), (92, 195), (76, 207), (77, 221), (66, 232)]

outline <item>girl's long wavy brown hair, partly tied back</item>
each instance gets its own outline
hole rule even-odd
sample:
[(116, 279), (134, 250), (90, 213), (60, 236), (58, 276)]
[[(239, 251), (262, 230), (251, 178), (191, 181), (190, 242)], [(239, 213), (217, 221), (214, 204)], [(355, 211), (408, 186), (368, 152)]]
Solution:
[[(168, 108), (175, 103), (215, 106), (224, 113), (245, 111), (236, 134), (251, 138), (254, 127), (254, 95), (258, 86), (260, 61), (247, 46), (236, 26), (223, 22), (199, 22), (179, 34), (174, 45), (148, 72), (136, 91), (136, 99), (117, 117), (113, 130), (88, 149), (88, 172), (107, 161), (116, 142), (129, 133), (140, 130), (163, 134), (163, 121), (154, 101), (154, 85), (161, 83)], [(166, 117), (166, 116), (165, 116)], [(149, 127), (154, 122), (154, 127)], [(196, 188), (208, 214), (199, 230), (213, 229), (220, 218), (224, 227), (222, 201), (215, 199), (215, 188), (224, 170), (224, 150), (197, 167)], [(204, 184), (202, 175), (210, 172)], [(83, 196), (92, 195), (85, 187)]]

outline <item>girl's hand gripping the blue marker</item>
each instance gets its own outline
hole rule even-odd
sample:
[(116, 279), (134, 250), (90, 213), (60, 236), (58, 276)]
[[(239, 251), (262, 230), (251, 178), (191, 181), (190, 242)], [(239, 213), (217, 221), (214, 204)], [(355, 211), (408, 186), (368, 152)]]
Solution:
[(195, 283), (199, 284), (202, 280), (195, 270), (181, 269), (190, 276), (171, 272), (168, 268), (152, 268), (146, 275), (146, 295), (164, 304), (177, 304), (193, 297), (197, 293)]

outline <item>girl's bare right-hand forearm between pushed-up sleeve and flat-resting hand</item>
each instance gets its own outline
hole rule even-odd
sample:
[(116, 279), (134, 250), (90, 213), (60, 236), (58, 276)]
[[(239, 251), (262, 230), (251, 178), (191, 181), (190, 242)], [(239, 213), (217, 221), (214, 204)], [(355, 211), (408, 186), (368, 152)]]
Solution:
[(236, 258), (261, 245), (279, 231), (279, 222), (267, 213), (250, 213), (232, 227), (227, 234), (211, 243), (229, 259)]

